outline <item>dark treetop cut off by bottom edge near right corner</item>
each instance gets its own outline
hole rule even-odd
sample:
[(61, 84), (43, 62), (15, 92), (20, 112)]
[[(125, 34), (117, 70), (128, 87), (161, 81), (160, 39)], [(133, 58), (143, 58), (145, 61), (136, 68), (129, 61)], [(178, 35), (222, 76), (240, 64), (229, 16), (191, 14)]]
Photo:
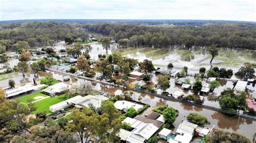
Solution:
[(252, 142), (250, 139), (246, 138), (244, 135), (239, 133), (229, 133), (224, 130), (214, 129), (211, 138), (206, 139), (206, 142)]

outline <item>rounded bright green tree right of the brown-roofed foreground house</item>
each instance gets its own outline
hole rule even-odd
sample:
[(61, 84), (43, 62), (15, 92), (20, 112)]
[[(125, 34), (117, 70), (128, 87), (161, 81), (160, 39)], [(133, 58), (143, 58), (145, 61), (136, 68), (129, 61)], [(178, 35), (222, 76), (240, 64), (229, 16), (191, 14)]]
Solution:
[(172, 107), (167, 107), (163, 111), (163, 116), (165, 121), (171, 125), (176, 120), (177, 112)]

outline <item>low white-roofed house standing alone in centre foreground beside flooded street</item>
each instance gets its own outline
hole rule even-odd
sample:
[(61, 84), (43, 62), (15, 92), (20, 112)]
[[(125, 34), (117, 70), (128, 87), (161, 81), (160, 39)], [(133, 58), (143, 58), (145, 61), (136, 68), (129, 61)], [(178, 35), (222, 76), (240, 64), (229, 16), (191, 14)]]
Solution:
[(123, 112), (126, 112), (126, 110), (129, 109), (129, 108), (134, 108), (136, 111), (138, 111), (138, 109), (140, 109), (140, 108), (143, 108), (143, 105), (132, 103), (132, 102), (129, 102), (129, 101), (116, 101), (114, 103), (114, 106), (118, 110), (121, 110)]

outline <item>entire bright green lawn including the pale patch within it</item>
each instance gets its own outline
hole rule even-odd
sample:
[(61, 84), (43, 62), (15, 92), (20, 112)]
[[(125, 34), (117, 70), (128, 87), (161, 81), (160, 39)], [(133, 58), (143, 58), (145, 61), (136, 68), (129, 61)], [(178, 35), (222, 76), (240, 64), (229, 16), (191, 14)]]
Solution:
[[(46, 98), (45, 98), (46, 97)], [(65, 101), (67, 98), (65, 98), (65, 95), (55, 96), (55, 97), (49, 97), (48, 95), (43, 94), (42, 92), (35, 92), (30, 95), (26, 95), (23, 97), (17, 98), (18, 101), (28, 104), (28, 99), (35, 99), (35, 106), (37, 108), (36, 111), (33, 111), (33, 114), (36, 114), (37, 112), (46, 112), (46, 114), (51, 113), (49, 107), (51, 105), (57, 104), (59, 102)], [(44, 98), (44, 99), (42, 99)], [(40, 100), (42, 99), (42, 100)], [(39, 101), (37, 101), (39, 100)]]

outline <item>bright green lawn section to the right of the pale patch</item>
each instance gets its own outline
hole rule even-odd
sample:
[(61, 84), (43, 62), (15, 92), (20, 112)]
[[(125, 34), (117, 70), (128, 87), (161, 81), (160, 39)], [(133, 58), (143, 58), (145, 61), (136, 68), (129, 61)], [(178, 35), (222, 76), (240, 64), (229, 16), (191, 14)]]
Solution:
[(59, 102), (65, 101), (65, 95), (55, 96), (55, 97), (49, 97), (45, 98), (42, 101), (35, 102), (35, 106), (37, 107), (37, 110), (32, 112), (33, 114), (36, 114), (37, 112), (46, 112), (46, 114), (51, 113), (49, 107), (51, 105), (57, 104)]

